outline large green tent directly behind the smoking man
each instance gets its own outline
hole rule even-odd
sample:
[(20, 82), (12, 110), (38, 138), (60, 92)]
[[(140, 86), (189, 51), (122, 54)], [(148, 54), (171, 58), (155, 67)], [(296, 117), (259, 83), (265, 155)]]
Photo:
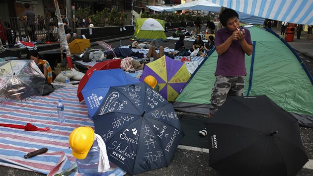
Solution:
[[(249, 26), (253, 53), (245, 56), (244, 95), (267, 95), (291, 112), (303, 126), (313, 127), (313, 78), (298, 54), (270, 29)], [(217, 52), (209, 53), (177, 97), (176, 110), (209, 114)]]

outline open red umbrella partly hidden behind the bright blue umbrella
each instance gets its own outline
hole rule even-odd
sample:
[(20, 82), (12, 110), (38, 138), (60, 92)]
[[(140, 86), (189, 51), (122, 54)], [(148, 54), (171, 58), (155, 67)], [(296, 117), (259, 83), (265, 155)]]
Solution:
[(79, 84), (78, 84), (77, 97), (78, 97), (79, 102), (81, 102), (83, 100), (81, 90), (86, 85), (86, 83), (88, 82), (93, 71), (121, 68), (121, 61), (122, 61), (121, 59), (112, 59), (112, 60), (99, 62), (99, 63), (96, 63), (93, 67), (91, 67), (89, 70), (87, 70), (87, 72), (81, 78), (81, 80), (79, 81)]

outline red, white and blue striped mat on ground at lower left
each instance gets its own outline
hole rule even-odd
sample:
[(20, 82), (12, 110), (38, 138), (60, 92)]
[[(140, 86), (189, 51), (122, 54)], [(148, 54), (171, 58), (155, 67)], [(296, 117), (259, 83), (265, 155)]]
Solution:
[[(85, 103), (79, 103), (76, 94), (77, 86), (72, 86), (55, 90), (42, 98), (0, 101), (0, 123), (31, 123), (39, 128), (50, 128), (49, 131), (24, 131), (0, 126), (0, 165), (48, 176), (68, 169), (75, 162), (68, 144), (70, 133), (79, 126), (94, 128)], [(58, 121), (58, 99), (62, 99), (65, 106), (64, 123)], [(48, 152), (24, 159), (27, 153), (43, 147), (47, 147)]]

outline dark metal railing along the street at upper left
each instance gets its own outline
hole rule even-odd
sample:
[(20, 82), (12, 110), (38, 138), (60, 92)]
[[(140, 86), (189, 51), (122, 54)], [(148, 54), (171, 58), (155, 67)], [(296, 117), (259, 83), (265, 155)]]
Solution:
[[(36, 17), (34, 23), (27, 23), (20, 17), (0, 17), (0, 25), (0, 32), (5, 33), (9, 46), (16, 44), (18, 40), (45, 42), (55, 41), (60, 38), (57, 18), (38, 19)], [(2, 31), (3, 29), (4, 31)], [(4, 44), (5, 41), (2, 41), (2, 43)]]

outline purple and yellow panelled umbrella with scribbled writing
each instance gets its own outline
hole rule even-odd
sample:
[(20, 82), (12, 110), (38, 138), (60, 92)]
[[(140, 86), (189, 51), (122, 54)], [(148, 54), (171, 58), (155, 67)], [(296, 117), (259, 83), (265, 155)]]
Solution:
[(190, 78), (183, 62), (175, 61), (165, 55), (146, 64), (139, 81), (144, 82), (149, 75), (157, 79), (157, 85), (160, 87), (159, 93), (167, 101), (174, 101)]

